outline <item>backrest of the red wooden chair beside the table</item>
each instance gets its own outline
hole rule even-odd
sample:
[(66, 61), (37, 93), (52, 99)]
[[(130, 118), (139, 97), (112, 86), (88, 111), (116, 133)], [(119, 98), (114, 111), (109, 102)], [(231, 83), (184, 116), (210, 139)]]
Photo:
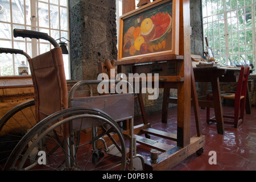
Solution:
[(244, 96), (246, 98), (247, 81), (250, 68), (248, 65), (241, 67), (240, 75), (237, 82), (236, 98)]

